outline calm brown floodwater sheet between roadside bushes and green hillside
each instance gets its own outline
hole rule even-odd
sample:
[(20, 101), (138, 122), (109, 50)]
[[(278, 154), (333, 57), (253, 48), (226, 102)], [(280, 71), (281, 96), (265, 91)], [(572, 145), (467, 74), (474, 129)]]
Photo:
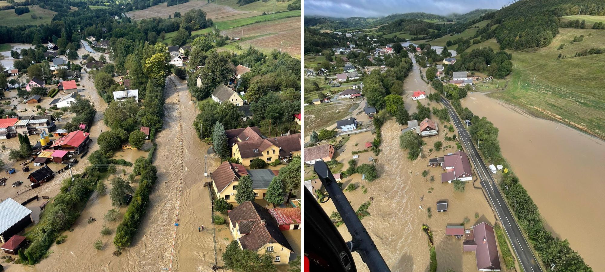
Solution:
[(595, 271), (605, 271), (601, 256), (605, 141), (482, 93), (469, 94), (462, 106), (500, 129), (502, 154), (534, 199), (547, 228), (569, 239)]

